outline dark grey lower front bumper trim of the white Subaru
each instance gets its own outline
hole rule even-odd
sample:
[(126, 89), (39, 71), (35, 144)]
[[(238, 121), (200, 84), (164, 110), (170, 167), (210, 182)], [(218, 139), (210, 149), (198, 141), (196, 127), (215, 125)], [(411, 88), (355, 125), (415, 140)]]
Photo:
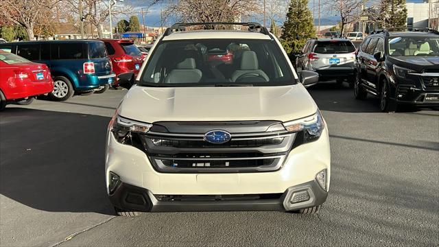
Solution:
[[(296, 193), (307, 193), (308, 200), (292, 203)], [(289, 187), (278, 198), (255, 198), (243, 200), (237, 195), (237, 200), (231, 197), (223, 200), (204, 200), (209, 195), (203, 195), (198, 200), (167, 200), (163, 201), (147, 189), (121, 183), (108, 198), (113, 206), (127, 211), (143, 212), (173, 212), (173, 211), (295, 211), (308, 207), (318, 206), (327, 200), (328, 192), (320, 188), (316, 180), (302, 185)]]

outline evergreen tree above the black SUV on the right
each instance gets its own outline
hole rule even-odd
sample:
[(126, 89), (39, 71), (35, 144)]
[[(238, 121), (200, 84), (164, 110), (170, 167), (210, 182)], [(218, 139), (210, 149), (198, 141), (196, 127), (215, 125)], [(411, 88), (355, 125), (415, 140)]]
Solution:
[(381, 27), (405, 27), (405, 21), (407, 21), (405, 0), (381, 0), (379, 9), (377, 22)]

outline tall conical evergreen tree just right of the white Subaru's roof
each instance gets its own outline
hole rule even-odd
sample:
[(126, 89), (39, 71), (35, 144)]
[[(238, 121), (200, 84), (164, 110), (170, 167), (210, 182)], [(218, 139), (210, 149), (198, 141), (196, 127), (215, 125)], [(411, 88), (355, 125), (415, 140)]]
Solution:
[(291, 0), (283, 23), (282, 45), (287, 54), (298, 53), (308, 38), (316, 35), (308, 0)]

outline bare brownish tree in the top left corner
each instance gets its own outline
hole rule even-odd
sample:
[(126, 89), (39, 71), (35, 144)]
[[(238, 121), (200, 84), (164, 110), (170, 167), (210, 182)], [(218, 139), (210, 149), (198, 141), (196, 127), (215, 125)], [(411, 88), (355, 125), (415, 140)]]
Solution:
[(10, 23), (21, 25), (29, 40), (34, 40), (34, 27), (51, 15), (51, 9), (61, 0), (0, 0), (3, 18)]

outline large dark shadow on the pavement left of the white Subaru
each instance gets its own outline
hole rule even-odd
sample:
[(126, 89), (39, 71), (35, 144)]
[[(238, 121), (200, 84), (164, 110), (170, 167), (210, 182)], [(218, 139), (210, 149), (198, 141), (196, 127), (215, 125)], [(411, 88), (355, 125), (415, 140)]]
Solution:
[(0, 193), (43, 211), (112, 214), (104, 178), (109, 121), (6, 108), (0, 113)]

